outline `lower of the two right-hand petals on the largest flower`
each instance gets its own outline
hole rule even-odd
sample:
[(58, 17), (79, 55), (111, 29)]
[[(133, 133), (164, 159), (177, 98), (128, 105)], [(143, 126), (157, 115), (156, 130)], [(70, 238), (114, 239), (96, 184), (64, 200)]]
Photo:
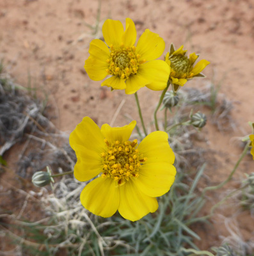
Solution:
[(175, 166), (169, 163), (145, 163), (135, 184), (145, 195), (162, 196), (170, 190), (176, 173)]

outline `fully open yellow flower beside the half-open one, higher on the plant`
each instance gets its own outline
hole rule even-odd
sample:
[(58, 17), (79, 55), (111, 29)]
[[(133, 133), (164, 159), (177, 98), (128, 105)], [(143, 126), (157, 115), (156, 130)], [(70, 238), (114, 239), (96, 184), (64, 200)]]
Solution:
[(163, 54), (163, 38), (149, 29), (136, 42), (134, 22), (127, 18), (126, 29), (119, 20), (107, 19), (102, 26), (102, 33), (107, 47), (102, 40), (90, 43), (89, 58), (84, 63), (88, 76), (100, 81), (111, 75), (101, 85), (123, 90), (132, 94), (141, 87), (151, 90), (166, 88), (170, 68), (162, 60), (155, 60)]

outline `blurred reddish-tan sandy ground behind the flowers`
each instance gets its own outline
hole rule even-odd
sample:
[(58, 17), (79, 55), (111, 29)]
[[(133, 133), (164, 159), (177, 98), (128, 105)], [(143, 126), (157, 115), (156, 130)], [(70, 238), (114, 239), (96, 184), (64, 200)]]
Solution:
[[(72, 131), (84, 116), (99, 125), (125, 125), (126, 116), (139, 120), (133, 95), (102, 88), (100, 82), (89, 79), (83, 68), (90, 41), (102, 37), (104, 20), (124, 23), (125, 17), (130, 17), (136, 23), (138, 36), (149, 28), (164, 38), (164, 54), (173, 42), (176, 47), (184, 44), (189, 53), (200, 53), (200, 59), (210, 61), (204, 72), (207, 78), (193, 79), (186, 86), (198, 88), (211, 81), (221, 84), (222, 97), (234, 106), (234, 129), (219, 132), (212, 124), (203, 129), (207, 147), (218, 152), (219, 164), (207, 173), (210, 184), (225, 179), (241, 154), (232, 138), (250, 134), (248, 121), (254, 122), (254, 1), (102, 0), (98, 24), (97, 10), (98, 2), (88, 0), (0, 0), (0, 59), (6, 70), (24, 86), (31, 79), (38, 94), (49, 97), (54, 122), (61, 131)], [(160, 92), (142, 88), (138, 95), (145, 121), (150, 124)], [(123, 106), (113, 120), (120, 104)], [(244, 172), (253, 169), (251, 157), (246, 157), (236, 177), (242, 178)], [(244, 239), (250, 239), (253, 219), (248, 214), (237, 218)], [(222, 219), (214, 219), (210, 230), (205, 229), (202, 248), (226, 236), (221, 223)]]

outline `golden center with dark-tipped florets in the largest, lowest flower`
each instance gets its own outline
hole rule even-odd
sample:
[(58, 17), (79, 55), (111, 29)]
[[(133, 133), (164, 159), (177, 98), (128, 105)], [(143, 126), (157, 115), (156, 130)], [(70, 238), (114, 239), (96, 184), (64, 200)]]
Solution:
[(109, 143), (104, 140), (107, 150), (102, 152), (102, 177), (116, 180), (118, 185), (125, 184), (129, 179), (139, 176), (139, 167), (147, 161), (146, 157), (141, 157), (136, 149), (138, 140), (125, 141), (120, 143), (116, 140)]

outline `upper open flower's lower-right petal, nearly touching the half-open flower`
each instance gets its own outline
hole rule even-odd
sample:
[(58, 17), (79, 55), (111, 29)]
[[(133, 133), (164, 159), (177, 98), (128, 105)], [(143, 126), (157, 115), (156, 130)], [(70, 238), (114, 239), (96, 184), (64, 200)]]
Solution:
[(160, 91), (167, 86), (170, 67), (163, 60), (153, 60), (140, 65), (138, 74), (150, 82), (146, 85), (147, 88)]

